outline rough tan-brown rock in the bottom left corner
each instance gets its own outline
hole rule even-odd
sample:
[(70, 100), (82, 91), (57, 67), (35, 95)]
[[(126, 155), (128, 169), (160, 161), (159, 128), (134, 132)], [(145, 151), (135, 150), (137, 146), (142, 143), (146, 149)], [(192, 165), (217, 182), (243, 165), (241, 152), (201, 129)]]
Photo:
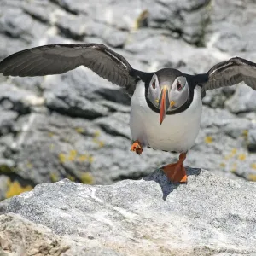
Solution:
[(0, 255), (61, 255), (68, 247), (49, 229), (19, 215), (0, 218)]

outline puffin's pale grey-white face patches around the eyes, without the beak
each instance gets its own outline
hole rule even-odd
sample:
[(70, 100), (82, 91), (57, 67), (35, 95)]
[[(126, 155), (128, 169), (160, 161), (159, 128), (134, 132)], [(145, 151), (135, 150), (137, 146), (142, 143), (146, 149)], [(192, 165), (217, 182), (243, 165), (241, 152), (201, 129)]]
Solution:
[(164, 80), (160, 84), (157, 75), (154, 74), (149, 83), (148, 99), (156, 108), (160, 109), (160, 96), (164, 88), (169, 100), (165, 102), (166, 104), (168, 103), (168, 106), (166, 105), (166, 112), (182, 107), (189, 99), (189, 85), (185, 77), (179, 76), (173, 82)]

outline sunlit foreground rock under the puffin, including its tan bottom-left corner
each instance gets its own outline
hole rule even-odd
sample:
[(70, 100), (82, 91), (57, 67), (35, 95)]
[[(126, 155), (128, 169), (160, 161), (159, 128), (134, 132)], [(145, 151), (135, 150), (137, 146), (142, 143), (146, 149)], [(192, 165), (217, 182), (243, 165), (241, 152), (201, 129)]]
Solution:
[[(108, 186), (67, 179), (40, 184), (0, 203), (2, 250), (5, 255), (20, 247), (28, 255), (45, 255), (43, 250), (47, 255), (255, 255), (256, 183), (188, 171), (185, 185), (169, 183), (161, 171)], [(99, 249), (102, 254), (87, 253)]]

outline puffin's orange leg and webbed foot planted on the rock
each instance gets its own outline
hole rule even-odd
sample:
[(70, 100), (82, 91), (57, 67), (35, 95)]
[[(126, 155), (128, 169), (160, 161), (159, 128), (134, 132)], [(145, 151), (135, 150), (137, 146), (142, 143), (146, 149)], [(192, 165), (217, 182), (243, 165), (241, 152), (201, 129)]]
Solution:
[(161, 169), (166, 173), (168, 179), (174, 183), (186, 183), (187, 174), (183, 166), (183, 161), (186, 159), (186, 153), (179, 155), (177, 163), (170, 164), (161, 167)]

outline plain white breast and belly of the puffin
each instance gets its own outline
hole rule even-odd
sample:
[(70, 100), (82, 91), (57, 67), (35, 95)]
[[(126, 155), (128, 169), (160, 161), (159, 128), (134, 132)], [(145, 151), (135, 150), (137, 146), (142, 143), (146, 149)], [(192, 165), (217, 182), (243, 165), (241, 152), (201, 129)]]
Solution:
[(155, 113), (145, 99), (143, 83), (131, 97), (131, 137), (143, 146), (166, 151), (186, 152), (195, 143), (200, 129), (201, 87), (195, 87), (194, 99), (189, 108), (182, 113), (166, 115), (160, 125), (159, 113)]

